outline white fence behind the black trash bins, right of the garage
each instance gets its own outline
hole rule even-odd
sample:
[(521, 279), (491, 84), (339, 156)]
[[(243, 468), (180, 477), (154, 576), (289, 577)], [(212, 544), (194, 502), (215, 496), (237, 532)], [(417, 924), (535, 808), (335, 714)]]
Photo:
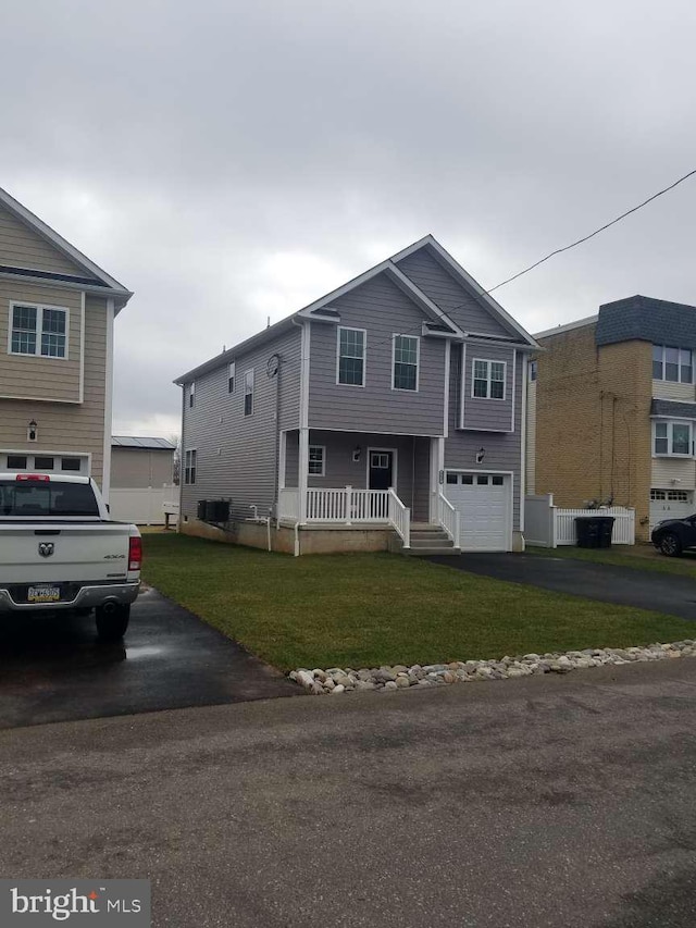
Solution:
[(577, 544), (575, 519), (591, 516), (611, 516), (612, 545), (635, 544), (635, 509), (612, 506), (606, 509), (559, 509), (554, 494), (526, 496), (524, 499), (524, 539), (530, 545), (558, 547)]

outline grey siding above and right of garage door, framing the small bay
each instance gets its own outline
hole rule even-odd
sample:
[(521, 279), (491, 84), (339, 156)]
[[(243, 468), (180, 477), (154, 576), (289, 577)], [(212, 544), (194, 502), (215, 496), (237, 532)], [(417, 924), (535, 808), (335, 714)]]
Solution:
[[(468, 348), (469, 350), (469, 348)], [(462, 432), (457, 429), (459, 424), (459, 399), (461, 383), (461, 357), (459, 346), (452, 348), (449, 403), (449, 437), (445, 440), (445, 469), (481, 471), (511, 471), (513, 473), (512, 504), (513, 504), (513, 530), (520, 528), (520, 466), (521, 466), (521, 424), (522, 424), (522, 372), (523, 359), (518, 352), (515, 364), (515, 414), (514, 432), (505, 434), (500, 432)], [(495, 403), (495, 400), (488, 400)], [(484, 460), (476, 463), (476, 451), (484, 448)]]

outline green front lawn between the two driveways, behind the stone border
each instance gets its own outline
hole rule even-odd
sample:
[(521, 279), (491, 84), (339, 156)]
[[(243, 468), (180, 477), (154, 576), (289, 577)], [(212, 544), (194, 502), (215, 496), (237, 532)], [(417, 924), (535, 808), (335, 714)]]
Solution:
[(689, 638), (694, 626), (388, 554), (294, 558), (148, 534), (145, 580), (283, 670)]

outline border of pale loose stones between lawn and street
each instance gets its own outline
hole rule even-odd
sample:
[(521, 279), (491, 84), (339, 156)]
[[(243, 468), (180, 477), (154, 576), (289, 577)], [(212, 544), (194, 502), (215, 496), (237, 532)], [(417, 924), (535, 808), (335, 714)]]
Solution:
[(288, 676), (313, 695), (337, 695), (352, 690), (408, 690), (410, 686), (443, 686), (448, 683), (473, 683), (476, 680), (510, 680), (543, 673), (567, 673), (605, 665), (635, 664), (696, 656), (696, 641), (687, 639), (648, 647), (593, 647), (555, 654), (525, 654), (500, 660), (457, 660), (451, 664), (413, 664), (405, 667), (383, 666), (352, 670), (331, 667), (328, 670), (293, 670)]

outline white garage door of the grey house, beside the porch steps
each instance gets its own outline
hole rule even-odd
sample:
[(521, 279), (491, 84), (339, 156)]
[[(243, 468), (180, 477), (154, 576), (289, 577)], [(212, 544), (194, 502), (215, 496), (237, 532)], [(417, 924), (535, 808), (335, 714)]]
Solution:
[(445, 496), (459, 511), (462, 550), (512, 549), (510, 477), (447, 471)]

